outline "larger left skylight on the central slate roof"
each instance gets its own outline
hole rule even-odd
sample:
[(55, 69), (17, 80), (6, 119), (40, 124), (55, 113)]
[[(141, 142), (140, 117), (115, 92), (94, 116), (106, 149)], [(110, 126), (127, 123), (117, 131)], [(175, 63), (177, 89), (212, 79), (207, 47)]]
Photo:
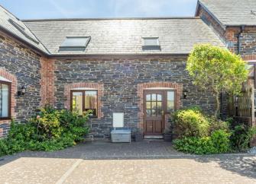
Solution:
[(90, 36), (67, 36), (61, 44), (59, 52), (85, 51), (90, 39)]

